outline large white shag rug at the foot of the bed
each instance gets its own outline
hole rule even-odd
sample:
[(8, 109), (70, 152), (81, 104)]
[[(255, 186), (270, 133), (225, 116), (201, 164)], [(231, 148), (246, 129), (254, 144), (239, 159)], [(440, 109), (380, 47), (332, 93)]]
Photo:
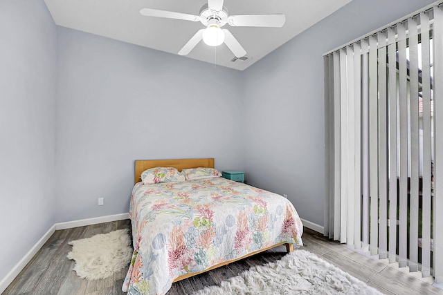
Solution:
[(239, 276), (195, 292), (224, 294), (382, 294), (361, 280), (306, 250), (296, 250), (281, 260), (251, 267)]

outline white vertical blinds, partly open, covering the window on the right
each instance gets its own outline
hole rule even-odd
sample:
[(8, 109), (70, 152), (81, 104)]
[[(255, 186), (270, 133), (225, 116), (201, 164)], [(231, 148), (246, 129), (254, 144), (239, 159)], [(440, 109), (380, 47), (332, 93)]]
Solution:
[(324, 68), (325, 236), (443, 283), (441, 4)]

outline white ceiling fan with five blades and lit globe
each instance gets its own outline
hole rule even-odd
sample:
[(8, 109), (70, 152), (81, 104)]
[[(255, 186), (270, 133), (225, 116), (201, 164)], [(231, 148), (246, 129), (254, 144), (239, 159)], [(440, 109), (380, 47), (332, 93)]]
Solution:
[(209, 46), (219, 46), (224, 43), (235, 57), (243, 57), (246, 50), (227, 29), (221, 30), (226, 25), (238, 27), (274, 27), (281, 28), (286, 21), (282, 14), (278, 15), (228, 15), (228, 10), (223, 6), (224, 0), (208, 0), (200, 9), (199, 15), (188, 15), (181, 12), (143, 8), (141, 15), (147, 17), (163, 17), (166, 19), (183, 19), (185, 21), (200, 21), (206, 29), (198, 30), (188, 43), (181, 48), (179, 55), (188, 55), (199, 44), (201, 39)]

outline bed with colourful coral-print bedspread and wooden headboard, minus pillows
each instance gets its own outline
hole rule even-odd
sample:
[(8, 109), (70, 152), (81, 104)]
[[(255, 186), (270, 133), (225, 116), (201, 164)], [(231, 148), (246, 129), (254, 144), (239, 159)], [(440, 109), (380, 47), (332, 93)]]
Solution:
[(158, 166), (213, 169), (214, 159), (136, 160), (129, 207), (134, 254), (124, 292), (165, 294), (190, 276), (280, 245), (288, 252), (302, 245), (302, 222), (286, 198), (217, 175), (140, 182), (143, 171)]

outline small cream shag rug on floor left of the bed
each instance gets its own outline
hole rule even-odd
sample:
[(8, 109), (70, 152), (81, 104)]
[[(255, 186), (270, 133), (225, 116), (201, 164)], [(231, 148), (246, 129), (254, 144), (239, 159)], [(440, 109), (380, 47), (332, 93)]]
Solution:
[(69, 245), (72, 245), (72, 251), (67, 257), (75, 260), (73, 269), (80, 278), (87, 280), (112, 276), (126, 267), (132, 257), (131, 238), (127, 229), (73, 240)]

